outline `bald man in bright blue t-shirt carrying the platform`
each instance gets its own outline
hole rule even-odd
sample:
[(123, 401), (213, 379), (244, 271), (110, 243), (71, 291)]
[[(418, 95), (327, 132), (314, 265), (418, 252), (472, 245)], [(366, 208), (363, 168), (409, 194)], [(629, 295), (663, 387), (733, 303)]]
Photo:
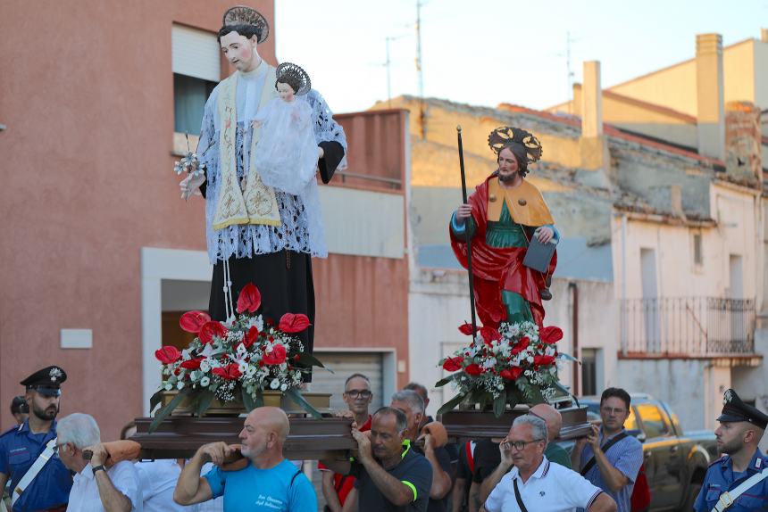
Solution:
[[(312, 483), (283, 457), (288, 416), (276, 407), (254, 409), (240, 432), (241, 452), (248, 465), (237, 471), (221, 468), (237, 447), (224, 442), (201, 446), (179, 475), (173, 500), (191, 505), (224, 497), (224, 511), (316, 512)], [(217, 467), (200, 476), (206, 462)]]

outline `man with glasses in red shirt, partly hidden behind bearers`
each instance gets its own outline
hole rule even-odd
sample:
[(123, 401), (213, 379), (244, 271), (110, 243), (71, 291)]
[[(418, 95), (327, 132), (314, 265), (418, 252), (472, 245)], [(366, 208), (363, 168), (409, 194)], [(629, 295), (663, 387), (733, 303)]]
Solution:
[[(372, 398), (371, 381), (367, 376), (353, 374), (346, 378), (344, 401), (346, 401), (346, 406), (355, 418), (355, 424), (359, 425), (361, 432), (371, 430), (371, 414), (368, 412), (368, 408)], [(341, 512), (346, 496), (355, 487), (355, 477), (334, 473), (322, 463), (318, 463), (317, 468), (322, 471), (322, 495), (325, 497), (325, 510)]]

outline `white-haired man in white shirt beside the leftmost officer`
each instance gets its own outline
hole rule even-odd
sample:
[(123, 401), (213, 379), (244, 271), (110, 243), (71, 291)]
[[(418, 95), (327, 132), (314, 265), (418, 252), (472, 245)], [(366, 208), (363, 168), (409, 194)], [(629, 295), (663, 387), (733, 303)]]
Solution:
[[(82, 413), (63, 417), (57, 427), (56, 450), (64, 466), (75, 473), (67, 510), (75, 512), (143, 511), (136, 468), (127, 460), (109, 469), (96, 420)], [(90, 450), (90, 460), (83, 452)]]

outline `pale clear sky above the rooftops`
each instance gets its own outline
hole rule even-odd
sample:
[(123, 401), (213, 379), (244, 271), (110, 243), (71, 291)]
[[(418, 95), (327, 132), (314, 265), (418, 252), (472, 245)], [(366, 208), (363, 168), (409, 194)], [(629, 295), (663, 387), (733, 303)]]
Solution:
[[(416, 0), (275, 0), (277, 56), (307, 70), (333, 111), (361, 111), (418, 92)], [(768, 0), (423, 0), (424, 94), (461, 103), (545, 108), (568, 99), (581, 64), (599, 60), (602, 83), (692, 58), (696, 34), (723, 44), (760, 37)]]

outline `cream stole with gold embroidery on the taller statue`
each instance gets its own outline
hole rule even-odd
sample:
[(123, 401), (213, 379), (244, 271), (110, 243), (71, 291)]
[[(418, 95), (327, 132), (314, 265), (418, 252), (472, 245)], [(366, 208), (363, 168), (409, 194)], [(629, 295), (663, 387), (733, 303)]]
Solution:
[[(267, 77), (262, 89), (262, 97), (259, 101), (259, 110), (268, 103), (277, 93), (271, 84), (275, 82), (275, 68), (267, 68)], [(219, 129), (219, 169), (221, 171), (221, 193), (219, 203), (216, 205), (216, 215), (213, 218), (213, 229), (237, 224), (265, 224), (268, 226), (280, 226), (280, 211), (278, 209), (275, 191), (262, 182), (258, 171), (255, 169), (253, 155), (256, 143), (261, 135), (261, 128), (254, 128), (251, 141), (251, 151), (248, 158), (248, 171), (246, 178), (246, 192), (242, 193), (238, 184), (238, 167), (235, 161), (237, 119), (237, 92), (238, 72), (221, 82), (217, 108), (221, 128)], [(247, 131), (247, 127), (246, 127)]]

